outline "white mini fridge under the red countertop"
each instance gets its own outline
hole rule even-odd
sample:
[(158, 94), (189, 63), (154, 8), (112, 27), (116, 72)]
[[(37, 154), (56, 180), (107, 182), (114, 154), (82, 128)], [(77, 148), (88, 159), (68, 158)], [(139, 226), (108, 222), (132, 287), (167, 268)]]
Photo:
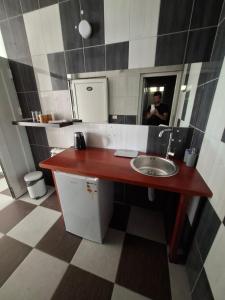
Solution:
[(54, 172), (66, 230), (98, 243), (113, 213), (113, 182)]

